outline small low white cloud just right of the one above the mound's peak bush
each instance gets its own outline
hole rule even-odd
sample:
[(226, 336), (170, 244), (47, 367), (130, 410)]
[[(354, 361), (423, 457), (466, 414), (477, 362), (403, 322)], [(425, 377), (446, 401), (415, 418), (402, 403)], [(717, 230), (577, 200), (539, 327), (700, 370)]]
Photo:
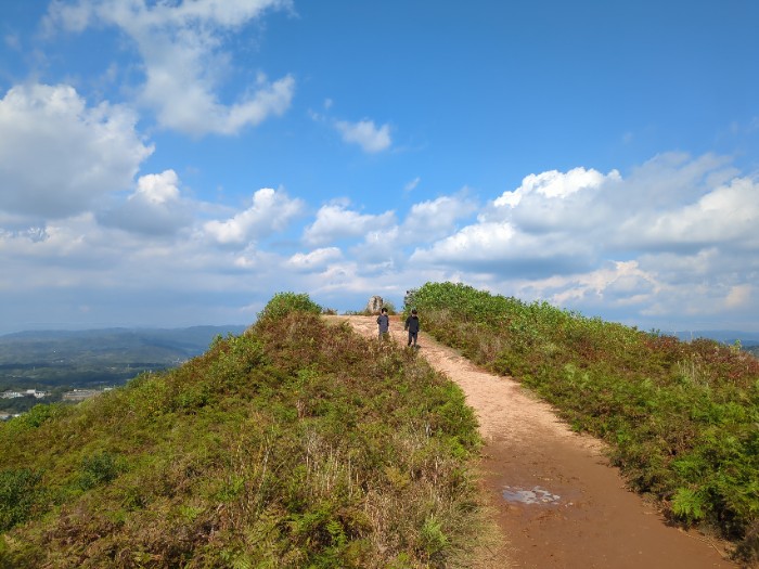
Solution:
[(319, 209), (316, 221), (304, 231), (304, 241), (309, 245), (324, 245), (343, 238), (363, 237), (370, 232), (383, 231), (394, 224), (393, 211), (373, 216), (332, 204)]

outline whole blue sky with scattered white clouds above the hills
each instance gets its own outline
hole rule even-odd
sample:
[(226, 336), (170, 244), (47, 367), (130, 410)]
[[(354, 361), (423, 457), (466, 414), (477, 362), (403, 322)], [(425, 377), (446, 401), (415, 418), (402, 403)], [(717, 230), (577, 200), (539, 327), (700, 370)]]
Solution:
[(0, 333), (428, 281), (759, 331), (759, 3), (0, 5)]

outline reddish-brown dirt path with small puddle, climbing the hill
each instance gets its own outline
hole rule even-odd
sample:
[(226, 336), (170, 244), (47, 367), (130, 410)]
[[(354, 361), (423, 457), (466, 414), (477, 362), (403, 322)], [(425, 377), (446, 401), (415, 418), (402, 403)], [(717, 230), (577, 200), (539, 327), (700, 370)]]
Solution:
[[(347, 319), (376, 337), (371, 316)], [(406, 344), (391, 319), (394, 338)], [(485, 486), (511, 547), (503, 567), (524, 569), (735, 569), (719, 545), (668, 527), (625, 489), (597, 440), (577, 435), (519, 384), (486, 373), (424, 333), (420, 353), (459, 384), (487, 444)]]

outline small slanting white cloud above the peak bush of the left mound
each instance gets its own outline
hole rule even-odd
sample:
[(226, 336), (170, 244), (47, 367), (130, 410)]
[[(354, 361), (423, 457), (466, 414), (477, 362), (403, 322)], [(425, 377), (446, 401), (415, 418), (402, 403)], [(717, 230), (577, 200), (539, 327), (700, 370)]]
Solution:
[(280, 190), (263, 187), (253, 195), (253, 204), (223, 221), (204, 224), (205, 233), (222, 245), (241, 245), (282, 231), (304, 209), (301, 199), (291, 199)]

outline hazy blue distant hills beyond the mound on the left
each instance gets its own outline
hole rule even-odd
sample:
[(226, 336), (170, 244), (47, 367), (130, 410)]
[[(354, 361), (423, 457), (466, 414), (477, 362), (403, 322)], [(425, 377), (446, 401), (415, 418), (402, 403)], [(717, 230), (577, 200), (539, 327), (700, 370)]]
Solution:
[(0, 388), (120, 384), (204, 353), (246, 326), (35, 331), (0, 336)]

